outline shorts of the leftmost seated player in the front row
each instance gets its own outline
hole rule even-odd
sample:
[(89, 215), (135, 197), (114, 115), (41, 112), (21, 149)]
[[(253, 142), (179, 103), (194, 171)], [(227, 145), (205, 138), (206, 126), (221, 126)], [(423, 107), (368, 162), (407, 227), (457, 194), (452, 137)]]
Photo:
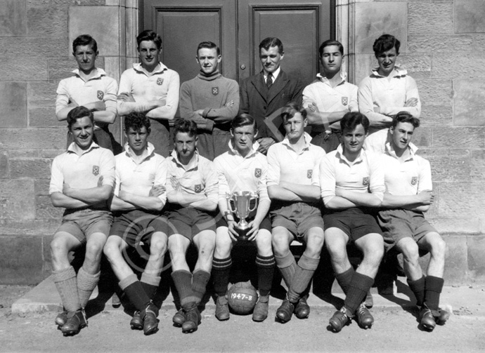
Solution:
[(81, 243), (86, 243), (94, 233), (103, 233), (108, 237), (112, 220), (110, 211), (86, 209), (70, 212), (63, 215), (62, 223), (56, 233), (66, 232)]

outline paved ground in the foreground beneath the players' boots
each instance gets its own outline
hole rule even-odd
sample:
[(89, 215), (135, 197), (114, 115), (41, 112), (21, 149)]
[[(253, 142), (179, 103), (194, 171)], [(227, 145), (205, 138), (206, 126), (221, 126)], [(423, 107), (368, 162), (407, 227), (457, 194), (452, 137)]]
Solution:
[[(399, 286), (398, 286), (399, 288)], [(287, 324), (273, 321), (279, 300), (271, 299), (270, 317), (263, 323), (250, 316), (232, 315), (226, 322), (214, 317), (209, 302), (202, 324), (185, 335), (172, 326), (175, 313), (167, 302), (160, 311), (160, 331), (144, 336), (131, 331), (129, 315), (104, 309), (89, 319), (79, 335), (65, 338), (56, 329), (55, 312), (13, 313), (10, 305), (28, 287), (0, 286), (0, 352), (483, 352), (485, 349), (485, 290), (482, 287), (446, 287), (441, 303), (453, 307), (453, 315), (432, 333), (420, 331), (416, 312), (406, 295), (375, 295), (371, 310), (375, 324), (363, 330), (352, 322), (341, 333), (328, 331), (335, 311), (330, 303), (311, 296), (309, 319), (293, 318)], [(401, 307), (402, 306), (402, 307)]]

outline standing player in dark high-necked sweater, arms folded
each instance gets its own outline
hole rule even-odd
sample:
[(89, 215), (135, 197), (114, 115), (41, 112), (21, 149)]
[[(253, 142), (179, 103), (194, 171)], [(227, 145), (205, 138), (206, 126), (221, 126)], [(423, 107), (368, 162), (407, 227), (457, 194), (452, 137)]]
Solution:
[(195, 57), (200, 73), (181, 86), (180, 115), (198, 128), (198, 152), (211, 161), (229, 149), (231, 121), (238, 114), (239, 86), (219, 73), (221, 51), (202, 41)]

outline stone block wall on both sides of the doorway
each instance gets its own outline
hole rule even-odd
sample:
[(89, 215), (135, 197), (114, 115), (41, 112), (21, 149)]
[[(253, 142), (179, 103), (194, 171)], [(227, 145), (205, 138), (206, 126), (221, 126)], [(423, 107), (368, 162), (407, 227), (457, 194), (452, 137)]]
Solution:
[[(401, 40), (398, 64), (422, 99), (415, 142), (432, 163), (437, 199), (428, 218), (448, 243), (446, 281), (485, 283), (485, 2), (336, 2), (350, 81), (375, 66), (377, 36)], [(0, 284), (34, 284), (51, 270), (61, 211), (48, 197), (49, 167), (66, 133), (53, 103), (58, 81), (76, 67), (70, 43), (93, 35), (98, 66), (119, 79), (136, 58), (137, 3), (0, 0)]]

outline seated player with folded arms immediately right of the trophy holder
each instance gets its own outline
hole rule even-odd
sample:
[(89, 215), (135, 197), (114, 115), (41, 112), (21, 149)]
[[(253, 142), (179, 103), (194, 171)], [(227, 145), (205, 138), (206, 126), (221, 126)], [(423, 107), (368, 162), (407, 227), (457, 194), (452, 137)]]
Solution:
[[(276, 319), (290, 321), (310, 314), (306, 303), (309, 284), (320, 261), (323, 220), (320, 211), (320, 161), (323, 148), (311, 145), (304, 132), (306, 110), (288, 103), (281, 113), (286, 136), (268, 150), (268, 194), (271, 199), (272, 243), (276, 265), (287, 285), (287, 298)], [(290, 251), (293, 240), (306, 244), (298, 263)]]

